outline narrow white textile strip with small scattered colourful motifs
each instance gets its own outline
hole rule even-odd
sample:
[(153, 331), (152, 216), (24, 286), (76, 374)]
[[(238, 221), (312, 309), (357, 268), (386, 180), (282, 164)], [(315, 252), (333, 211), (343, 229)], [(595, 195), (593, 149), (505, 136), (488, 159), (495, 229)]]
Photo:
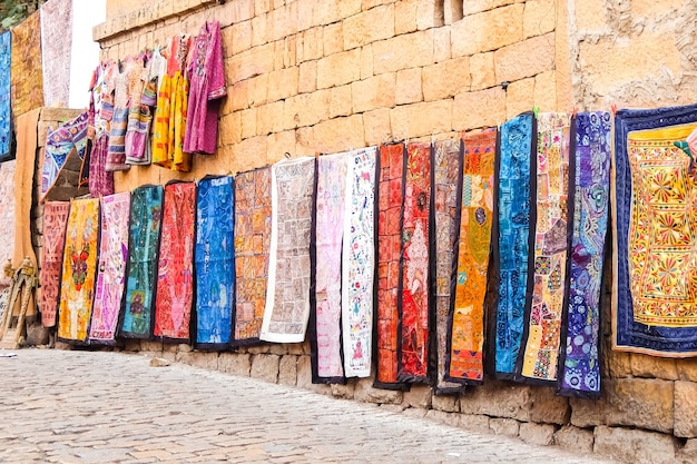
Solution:
[(341, 300), (346, 377), (371, 375), (376, 154), (376, 147), (354, 150), (346, 161)]

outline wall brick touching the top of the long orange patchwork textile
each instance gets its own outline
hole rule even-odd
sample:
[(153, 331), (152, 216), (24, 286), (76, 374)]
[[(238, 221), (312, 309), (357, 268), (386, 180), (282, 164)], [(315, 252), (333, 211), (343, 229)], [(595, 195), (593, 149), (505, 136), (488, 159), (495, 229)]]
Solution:
[(505, 92), (500, 87), (460, 93), (452, 110), (453, 130), (498, 126), (505, 121)]

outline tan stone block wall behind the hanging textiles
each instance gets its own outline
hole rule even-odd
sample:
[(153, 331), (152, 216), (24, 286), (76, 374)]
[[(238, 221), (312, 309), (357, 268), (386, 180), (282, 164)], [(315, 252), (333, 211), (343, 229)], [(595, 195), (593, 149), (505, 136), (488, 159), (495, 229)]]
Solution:
[[(286, 152), (441, 139), (501, 124), (533, 106), (570, 111), (694, 100), (697, 22), (691, 10), (671, 13), (683, 7), (679, 0), (161, 0), (139, 9), (134, 3), (109, 1), (109, 20), (95, 28), (102, 58), (164, 45), (217, 19), (228, 97), (216, 155), (196, 156), (186, 175), (158, 167), (117, 174), (119, 191), (242, 171)], [(425, 386), (381, 391), (372, 379), (313, 385), (307, 344), (199, 353), (186, 345), (129, 342), (125, 349), (531, 443), (637, 463), (694, 462), (697, 361), (611, 352), (607, 305), (603, 316), (603, 395), (597, 402), (495, 381), (460, 396), (434, 396)]]

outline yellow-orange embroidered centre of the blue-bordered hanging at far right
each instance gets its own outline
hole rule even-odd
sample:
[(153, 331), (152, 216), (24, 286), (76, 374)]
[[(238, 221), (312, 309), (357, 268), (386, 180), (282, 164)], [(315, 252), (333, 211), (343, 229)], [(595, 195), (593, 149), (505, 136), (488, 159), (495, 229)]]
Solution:
[(629, 278), (634, 318), (697, 325), (697, 176), (675, 142), (697, 124), (630, 132)]

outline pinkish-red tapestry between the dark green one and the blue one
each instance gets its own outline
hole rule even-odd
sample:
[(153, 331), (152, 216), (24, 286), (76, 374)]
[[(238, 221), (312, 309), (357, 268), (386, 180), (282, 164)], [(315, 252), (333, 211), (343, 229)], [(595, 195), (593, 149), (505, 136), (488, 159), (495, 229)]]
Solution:
[(165, 186), (163, 233), (157, 266), (155, 336), (189, 340), (194, 297), (196, 184)]

